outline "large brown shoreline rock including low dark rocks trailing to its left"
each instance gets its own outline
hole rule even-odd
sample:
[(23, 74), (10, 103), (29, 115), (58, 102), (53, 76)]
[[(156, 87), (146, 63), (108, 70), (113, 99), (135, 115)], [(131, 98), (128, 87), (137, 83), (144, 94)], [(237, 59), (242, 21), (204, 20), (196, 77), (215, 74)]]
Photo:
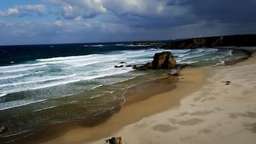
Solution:
[(175, 69), (176, 60), (171, 52), (156, 53), (153, 56), (153, 61), (148, 62), (142, 66), (135, 66), (134, 69), (146, 70), (146, 69)]

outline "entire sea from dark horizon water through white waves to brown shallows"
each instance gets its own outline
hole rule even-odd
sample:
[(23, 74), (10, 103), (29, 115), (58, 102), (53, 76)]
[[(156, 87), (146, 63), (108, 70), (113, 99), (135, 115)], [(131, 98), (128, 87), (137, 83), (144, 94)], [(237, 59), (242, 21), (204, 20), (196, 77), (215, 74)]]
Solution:
[(223, 64), (231, 49), (161, 49), (131, 42), (47, 44), (0, 47), (0, 138), (32, 135), (49, 125), (83, 120), (97, 123), (125, 104), (132, 87), (166, 75), (167, 70), (138, 71), (156, 52), (169, 51), (178, 64)]

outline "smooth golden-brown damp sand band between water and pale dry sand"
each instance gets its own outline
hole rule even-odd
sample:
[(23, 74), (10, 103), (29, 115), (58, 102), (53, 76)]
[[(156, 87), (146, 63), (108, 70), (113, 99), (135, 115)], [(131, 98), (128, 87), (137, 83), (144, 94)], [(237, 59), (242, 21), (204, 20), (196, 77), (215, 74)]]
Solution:
[[(151, 97), (143, 97), (141, 100), (132, 100), (132, 102), (125, 104), (120, 111), (105, 122), (100, 123), (100, 125), (91, 128), (83, 126), (82, 123), (57, 125), (54, 126), (53, 129), (47, 128), (47, 130), (41, 133), (32, 135), (32, 138), (25, 138), (19, 141), (19, 143), (91, 143), (94, 140), (108, 137), (110, 133), (120, 130), (120, 128), (125, 127), (125, 125), (136, 123), (143, 119), (143, 117), (148, 117), (158, 112), (168, 110), (171, 107), (176, 107), (184, 96), (198, 90), (205, 84), (210, 69), (212, 69), (212, 67), (182, 69), (181, 76), (179, 76), (180, 78), (177, 80), (178, 82), (174, 84), (175, 88), (168, 90), (168, 92), (174, 92), (175, 95), (170, 97), (166, 95), (168, 92), (161, 92), (156, 95), (151, 95)], [(173, 78), (166, 77), (161, 81), (163, 85), (166, 85), (170, 79), (172, 81)], [(194, 85), (191, 85), (191, 82), (193, 82)], [(186, 90), (184, 90), (184, 87), (186, 87)], [(160, 106), (159, 103), (161, 103)], [(62, 131), (63, 128), (67, 128), (67, 130)], [(50, 136), (45, 137), (45, 135)]]

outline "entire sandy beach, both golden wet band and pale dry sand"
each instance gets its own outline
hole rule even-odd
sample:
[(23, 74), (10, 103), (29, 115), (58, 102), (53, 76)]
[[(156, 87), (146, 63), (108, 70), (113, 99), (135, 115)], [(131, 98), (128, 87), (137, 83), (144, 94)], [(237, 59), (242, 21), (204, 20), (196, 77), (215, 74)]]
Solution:
[[(151, 97), (135, 93), (143, 98), (131, 100), (100, 125), (65, 125), (64, 132), (60, 125), (22, 143), (101, 144), (119, 136), (138, 144), (255, 143), (255, 56), (229, 66), (182, 69), (170, 91)], [(162, 87), (172, 80), (158, 82)]]

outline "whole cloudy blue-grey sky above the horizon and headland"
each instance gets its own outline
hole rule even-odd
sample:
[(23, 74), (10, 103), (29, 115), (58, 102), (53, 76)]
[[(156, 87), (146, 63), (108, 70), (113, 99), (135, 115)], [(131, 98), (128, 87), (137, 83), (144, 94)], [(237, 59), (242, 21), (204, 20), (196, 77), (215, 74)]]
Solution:
[(256, 34), (256, 0), (0, 0), (0, 45)]

